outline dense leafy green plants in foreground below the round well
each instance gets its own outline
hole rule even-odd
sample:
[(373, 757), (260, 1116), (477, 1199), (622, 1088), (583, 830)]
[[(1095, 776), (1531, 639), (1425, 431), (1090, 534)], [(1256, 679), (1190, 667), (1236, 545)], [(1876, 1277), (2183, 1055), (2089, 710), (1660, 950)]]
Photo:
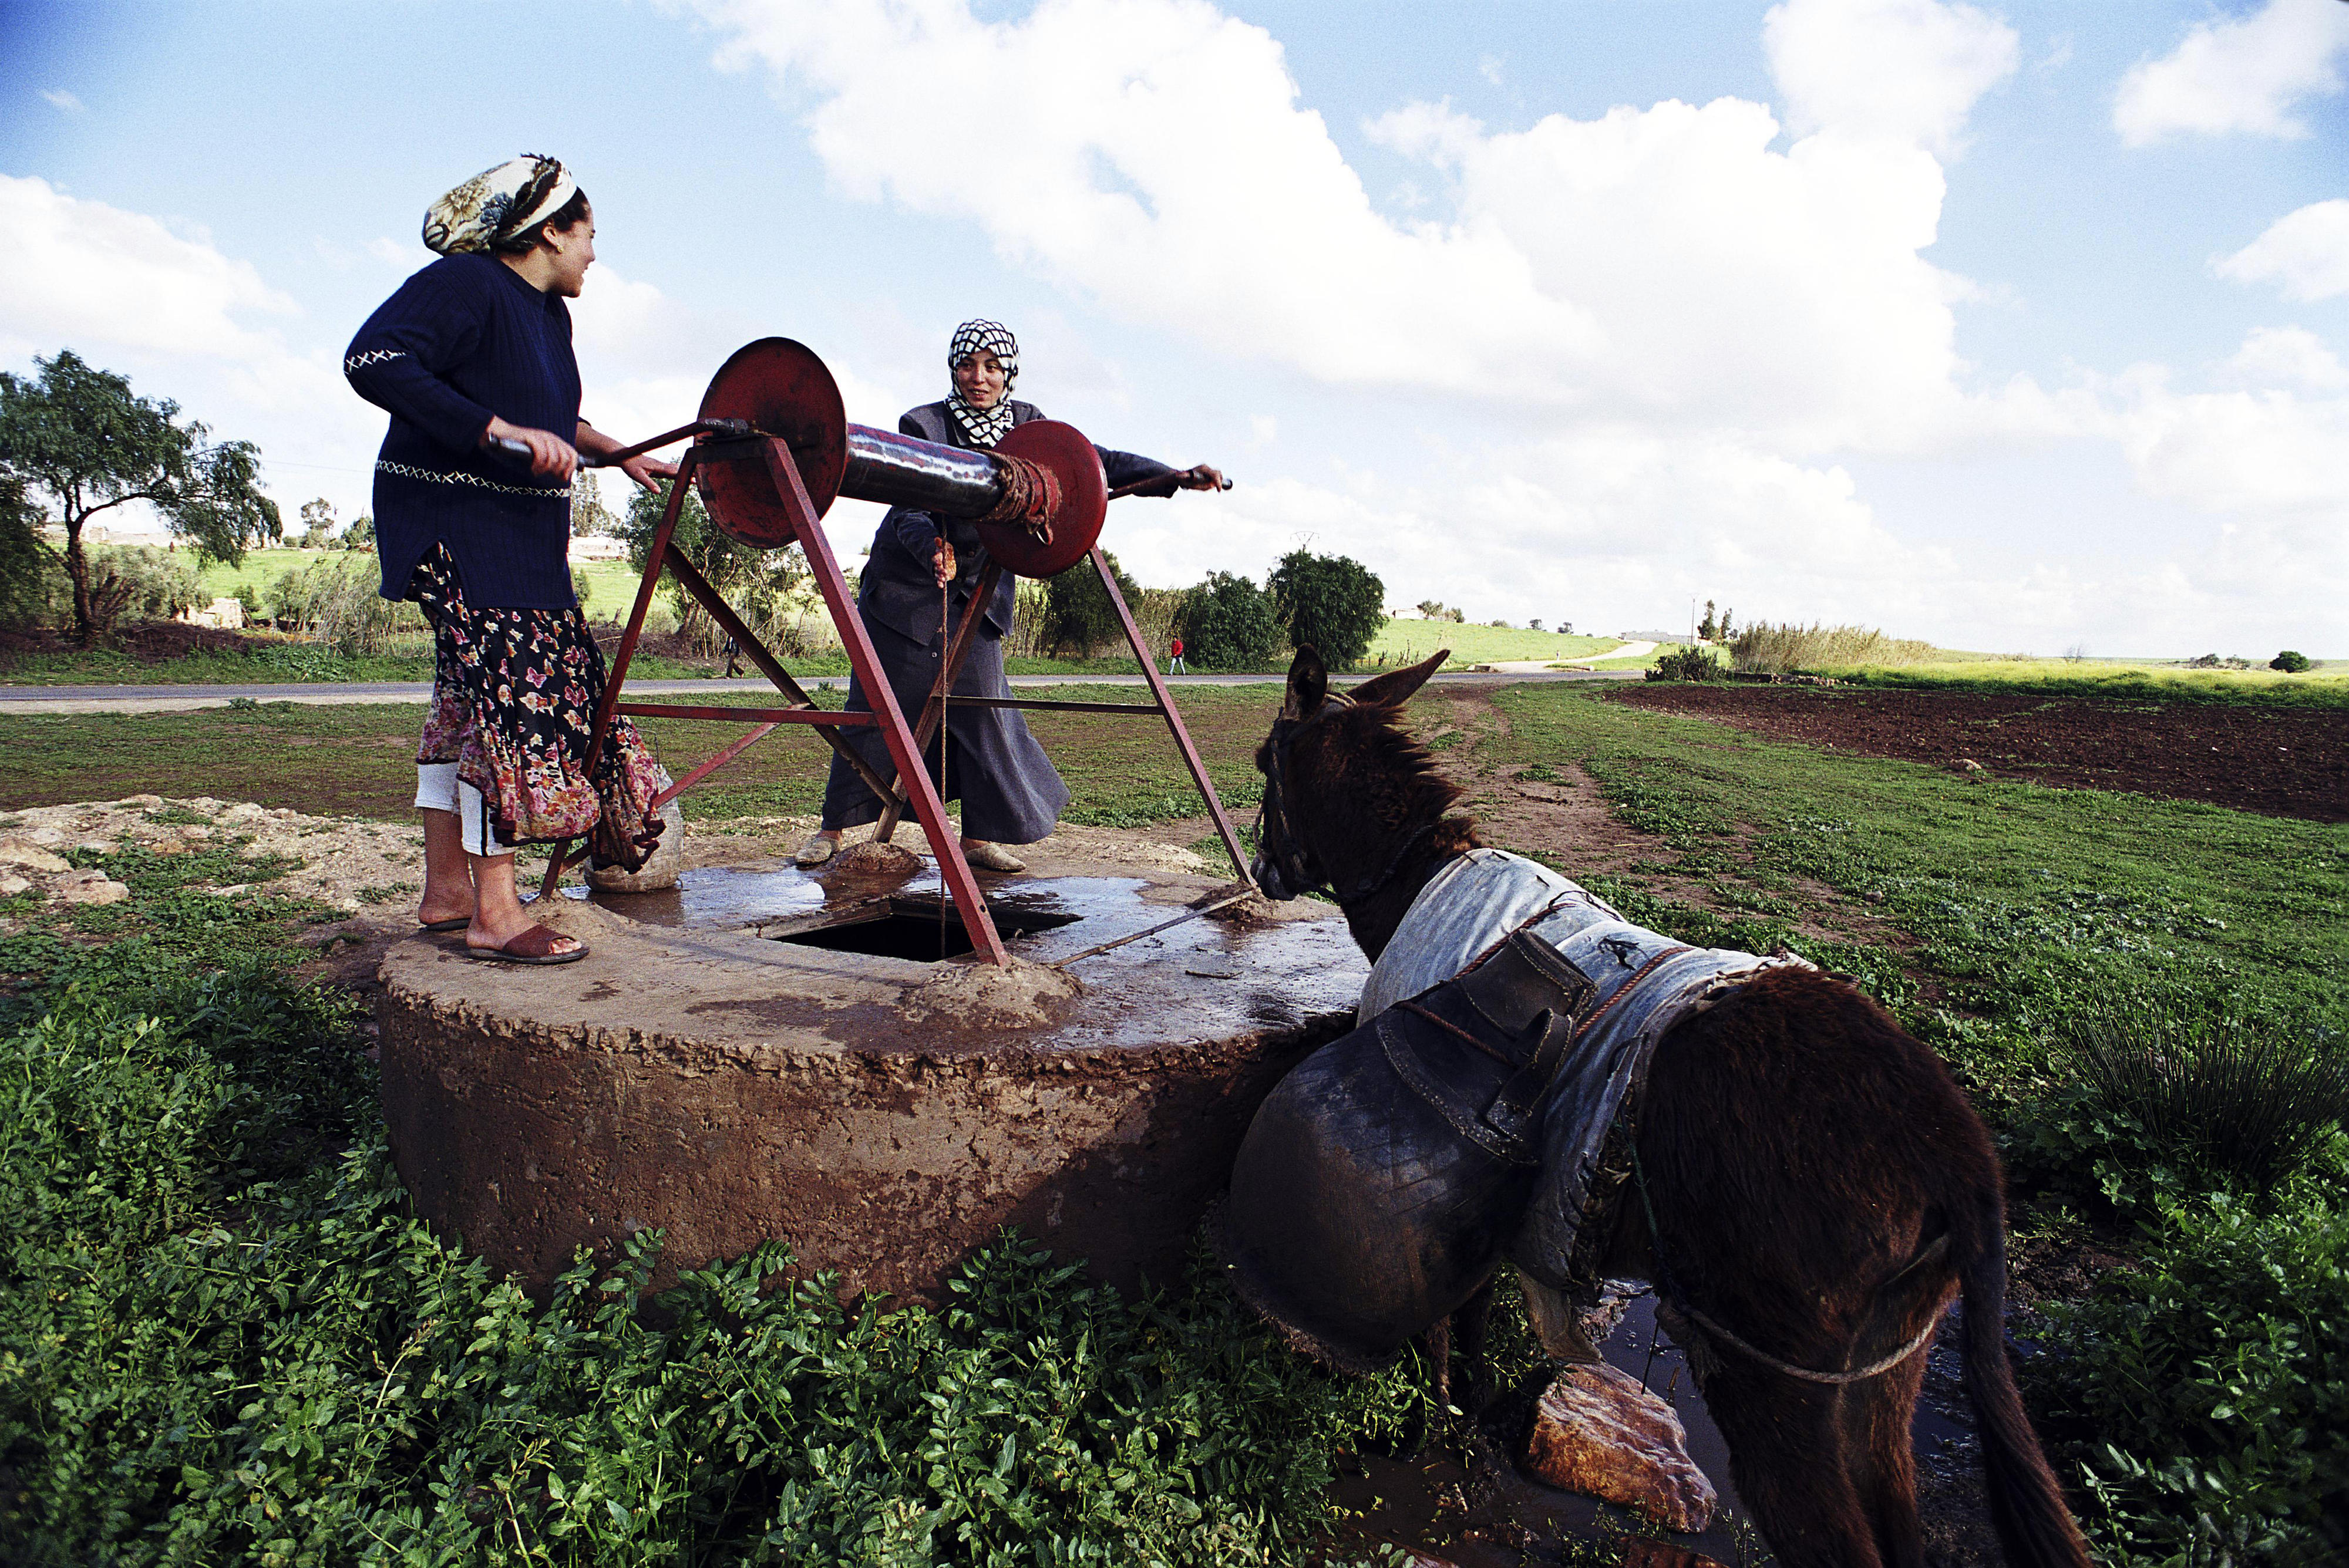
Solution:
[[(1005, 1237), (883, 1312), (768, 1244), (639, 1310), (644, 1232), (533, 1303), (409, 1214), (357, 1040), (348, 1103), (289, 1099), (289, 998), (0, 1038), (12, 1563), (1290, 1563), (1337, 1451), (1428, 1415), (1412, 1357), (1325, 1376), (1205, 1258), (1128, 1300)], [(310, 1120), (350, 1148), (254, 1160)]]

